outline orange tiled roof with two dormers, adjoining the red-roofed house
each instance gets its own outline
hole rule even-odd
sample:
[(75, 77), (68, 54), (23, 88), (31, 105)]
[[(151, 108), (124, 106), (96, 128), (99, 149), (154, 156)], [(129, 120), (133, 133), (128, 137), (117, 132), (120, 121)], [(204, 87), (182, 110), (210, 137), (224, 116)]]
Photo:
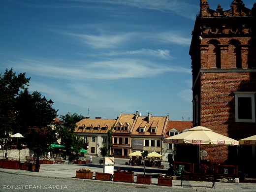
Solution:
[[(150, 117), (150, 121), (148, 122), (148, 117), (138, 117), (137, 121), (132, 129), (131, 135), (153, 135), (151, 133), (151, 128), (156, 128), (156, 133), (154, 135), (164, 135), (165, 126), (168, 121), (168, 116), (166, 117)], [(140, 133), (139, 128), (144, 128), (144, 133)]]

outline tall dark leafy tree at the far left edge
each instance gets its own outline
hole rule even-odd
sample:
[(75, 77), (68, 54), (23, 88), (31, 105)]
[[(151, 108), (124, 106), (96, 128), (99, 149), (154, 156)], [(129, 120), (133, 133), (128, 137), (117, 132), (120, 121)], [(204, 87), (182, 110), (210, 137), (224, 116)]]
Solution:
[(16, 75), (12, 68), (6, 69), (3, 75), (0, 73), (0, 138), (13, 132), (16, 97), (20, 90), (27, 90), (29, 86), (30, 78), (26, 78), (25, 74)]

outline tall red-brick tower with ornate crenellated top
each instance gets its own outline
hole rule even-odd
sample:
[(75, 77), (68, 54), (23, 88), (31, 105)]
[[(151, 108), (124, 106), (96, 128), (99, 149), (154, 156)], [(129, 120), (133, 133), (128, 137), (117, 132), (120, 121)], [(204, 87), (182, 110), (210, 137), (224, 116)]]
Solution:
[[(192, 31), (193, 126), (239, 140), (256, 134), (256, 3), (252, 9), (242, 0), (226, 11), (220, 4), (216, 11), (209, 7), (200, 0)], [(241, 162), (238, 147), (203, 150), (203, 160)]]

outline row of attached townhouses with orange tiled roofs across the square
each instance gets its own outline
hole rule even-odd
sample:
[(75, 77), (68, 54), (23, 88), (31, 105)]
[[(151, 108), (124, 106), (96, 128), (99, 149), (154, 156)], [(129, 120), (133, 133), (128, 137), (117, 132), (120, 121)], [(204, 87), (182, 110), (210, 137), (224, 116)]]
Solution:
[(148, 116), (140, 116), (138, 111), (135, 114), (121, 113), (117, 119), (87, 118), (76, 125), (74, 133), (84, 140), (87, 155), (98, 155), (101, 147), (108, 148), (111, 137), (112, 157), (129, 159), (129, 154), (135, 151), (155, 151), (163, 155), (165, 161), (170, 150), (167, 144), (163, 144), (163, 138), (172, 132), (180, 133), (191, 128), (185, 121), (169, 121), (168, 115), (155, 117), (148, 113)]

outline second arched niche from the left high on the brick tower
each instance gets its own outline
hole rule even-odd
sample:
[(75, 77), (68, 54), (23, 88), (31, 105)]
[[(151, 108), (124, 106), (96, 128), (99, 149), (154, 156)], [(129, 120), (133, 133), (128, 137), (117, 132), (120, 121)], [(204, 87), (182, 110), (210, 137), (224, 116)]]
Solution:
[(230, 68), (242, 68), (240, 42), (230, 40), (228, 45), (228, 65)]

